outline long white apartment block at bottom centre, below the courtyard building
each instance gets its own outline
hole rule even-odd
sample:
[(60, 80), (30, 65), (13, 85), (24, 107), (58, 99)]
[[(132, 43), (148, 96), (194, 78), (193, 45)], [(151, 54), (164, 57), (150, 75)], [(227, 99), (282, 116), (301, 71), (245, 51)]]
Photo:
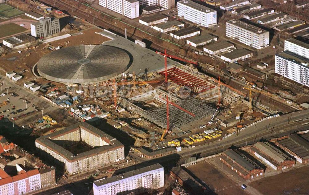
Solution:
[(116, 195), (145, 193), (145, 190), (164, 186), (164, 170), (160, 164), (100, 179), (93, 183), (94, 195)]

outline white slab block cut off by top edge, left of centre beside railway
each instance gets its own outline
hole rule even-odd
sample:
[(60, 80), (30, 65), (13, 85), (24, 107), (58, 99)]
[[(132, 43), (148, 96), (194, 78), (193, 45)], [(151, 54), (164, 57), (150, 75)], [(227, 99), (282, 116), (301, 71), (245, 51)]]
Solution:
[(131, 19), (139, 17), (138, 0), (99, 0), (99, 5)]

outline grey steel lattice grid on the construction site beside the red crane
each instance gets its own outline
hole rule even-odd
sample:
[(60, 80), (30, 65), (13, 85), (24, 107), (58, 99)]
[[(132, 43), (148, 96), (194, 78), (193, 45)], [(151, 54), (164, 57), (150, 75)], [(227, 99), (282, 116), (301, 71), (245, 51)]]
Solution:
[[(181, 99), (176, 102), (181, 108), (192, 112), (195, 117), (189, 115), (188, 113), (179, 110), (174, 106), (169, 108), (170, 124), (171, 128), (179, 128), (182, 125), (189, 124), (196, 120), (201, 120), (204, 117), (211, 116), (214, 114), (215, 110), (209, 106), (205, 101), (201, 101), (196, 98), (186, 98)], [(166, 128), (167, 119), (166, 119), (166, 106), (163, 105), (160, 108), (154, 108), (149, 111), (145, 111), (143, 115), (150, 120), (151, 122)]]

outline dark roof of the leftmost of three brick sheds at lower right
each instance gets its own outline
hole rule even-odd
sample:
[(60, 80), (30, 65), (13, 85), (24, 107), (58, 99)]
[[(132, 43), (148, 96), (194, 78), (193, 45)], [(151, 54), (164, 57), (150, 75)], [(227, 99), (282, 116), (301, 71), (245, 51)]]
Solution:
[(252, 171), (254, 169), (261, 169), (259, 165), (257, 165), (252, 160), (248, 159), (245, 155), (241, 154), (240, 152), (236, 152), (235, 150), (226, 150), (225, 153), (231, 159), (235, 160), (240, 166), (247, 169), (248, 171)]

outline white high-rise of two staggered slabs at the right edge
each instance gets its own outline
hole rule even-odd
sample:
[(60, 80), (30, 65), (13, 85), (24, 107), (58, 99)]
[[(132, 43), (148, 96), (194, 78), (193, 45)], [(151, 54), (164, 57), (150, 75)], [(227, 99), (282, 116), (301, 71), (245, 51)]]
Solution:
[(285, 40), (283, 52), (276, 54), (275, 72), (309, 87), (309, 44)]

